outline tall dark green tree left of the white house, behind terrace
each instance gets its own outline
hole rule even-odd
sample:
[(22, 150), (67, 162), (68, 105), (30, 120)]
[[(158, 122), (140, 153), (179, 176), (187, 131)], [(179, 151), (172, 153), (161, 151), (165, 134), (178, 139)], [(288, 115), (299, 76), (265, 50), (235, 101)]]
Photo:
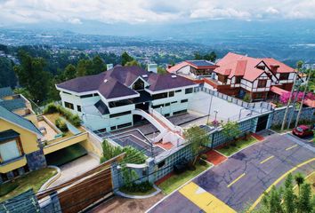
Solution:
[(20, 85), (29, 91), (36, 102), (46, 99), (50, 76), (44, 71), (42, 58), (33, 58), (26, 51), (19, 51), (20, 65), (14, 67)]

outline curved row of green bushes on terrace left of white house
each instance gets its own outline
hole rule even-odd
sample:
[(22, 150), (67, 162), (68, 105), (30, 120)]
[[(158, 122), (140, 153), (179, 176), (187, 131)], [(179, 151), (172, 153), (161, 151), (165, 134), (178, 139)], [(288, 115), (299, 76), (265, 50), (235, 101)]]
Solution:
[(48, 104), (44, 108), (44, 114), (53, 114), (59, 113), (63, 117), (65, 117), (69, 122), (71, 122), (74, 126), (78, 127), (81, 125), (81, 119), (77, 114), (72, 114), (68, 109), (64, 108), (60, 105), (55, 105), (53, 103)]

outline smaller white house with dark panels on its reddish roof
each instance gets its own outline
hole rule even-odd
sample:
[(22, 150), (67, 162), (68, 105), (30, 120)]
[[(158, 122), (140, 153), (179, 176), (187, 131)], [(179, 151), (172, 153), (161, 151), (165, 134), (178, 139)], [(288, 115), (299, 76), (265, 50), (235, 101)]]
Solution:
[(185, 60), (181, 63), (174, 65), (173, 67), (167, 67), (166, 70), (169, 73), (182, 75), (190, 79), (202, 79), (204, 77), (211, 77), (214, 72), (214, 68), (217, 66), (213, 62), (208, 60)]

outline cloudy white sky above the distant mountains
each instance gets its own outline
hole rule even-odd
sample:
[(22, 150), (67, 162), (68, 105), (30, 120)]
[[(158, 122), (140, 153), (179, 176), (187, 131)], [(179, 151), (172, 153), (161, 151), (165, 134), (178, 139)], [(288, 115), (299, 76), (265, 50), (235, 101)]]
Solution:
[(0, 0), (0, 24), (314, 20), (315, 0)]

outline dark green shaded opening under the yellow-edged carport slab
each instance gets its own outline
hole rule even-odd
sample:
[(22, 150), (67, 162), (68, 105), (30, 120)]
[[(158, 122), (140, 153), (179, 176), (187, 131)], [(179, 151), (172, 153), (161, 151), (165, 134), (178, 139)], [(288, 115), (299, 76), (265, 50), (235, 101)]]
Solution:
[(61, 166), (67, 162), (72, 162), (85, 154), (87, 154), (85, 148), (79, 144), (75, 144), (52, 154), (47, 154), (46, 161), (49, 165)]

